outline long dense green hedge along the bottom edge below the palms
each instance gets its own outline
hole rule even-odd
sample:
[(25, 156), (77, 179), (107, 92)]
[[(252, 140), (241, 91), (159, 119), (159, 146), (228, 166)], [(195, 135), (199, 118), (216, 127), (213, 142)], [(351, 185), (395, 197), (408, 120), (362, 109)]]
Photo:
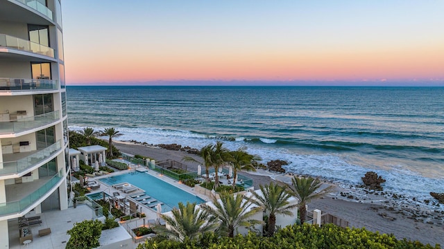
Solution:
[(201, 235), (198, 239), (185, 239), (183, 242), (170, 239), (149, 239), (139, 244), (138, 249), (157, 248), (410, 248), (410, 249), (438, 249), (439, 244), (430, 246), (419, 241), (396, 239), (393, 234), (379, 234), (365, 228), (340, 228), (336, 225), (289, 225), (275, 232), (272, 237), (261, 237), (253, 232), (243, 236), (237, 234), (233, 238), (219, 237), (210, 232)]

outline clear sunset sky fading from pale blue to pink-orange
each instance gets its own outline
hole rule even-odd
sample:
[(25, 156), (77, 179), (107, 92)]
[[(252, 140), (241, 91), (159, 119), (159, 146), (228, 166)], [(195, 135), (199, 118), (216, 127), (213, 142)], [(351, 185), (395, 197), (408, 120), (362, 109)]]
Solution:
[(444, 86), (441, 0), (62, 1), (80, 84)]

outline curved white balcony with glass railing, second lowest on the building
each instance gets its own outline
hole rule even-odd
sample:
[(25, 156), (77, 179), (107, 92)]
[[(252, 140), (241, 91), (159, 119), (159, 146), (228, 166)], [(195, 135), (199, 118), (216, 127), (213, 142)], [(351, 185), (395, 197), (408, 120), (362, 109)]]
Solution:
[[(39, 151), (31, 151), (32, 154), (29, 154), (29, 152), (3, 154), (3, 163), (0, 163), (0, 178), (6, 178), (7, 176), (24, 173), (27, 169), (30, 169), (35, 165), (42, 164), (46, 160), (49, 160), (49, 158), (52, 156), (58, 154), (58, 151), (60, 151), (61, 148), (62, 142), (61, 140), (58, 140), (44, 149)], [(26, 154), (28, 154), (28, 156), (24, 156)], [(21, 156), (21, 158), (18, 160), (7, 161), (8, 158), (17, 156)]]

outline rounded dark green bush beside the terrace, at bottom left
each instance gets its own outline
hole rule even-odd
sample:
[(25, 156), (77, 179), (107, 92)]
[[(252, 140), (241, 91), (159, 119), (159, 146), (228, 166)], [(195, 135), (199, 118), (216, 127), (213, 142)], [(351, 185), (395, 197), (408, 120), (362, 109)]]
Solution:
[(74, 223), (74, 227), (67, 231), (71, 235), (67, 243), (67, 249), (96, 248), (100, 246), (99, 239), (102, 234), (103, 224), (99, 220), (85, 220)]

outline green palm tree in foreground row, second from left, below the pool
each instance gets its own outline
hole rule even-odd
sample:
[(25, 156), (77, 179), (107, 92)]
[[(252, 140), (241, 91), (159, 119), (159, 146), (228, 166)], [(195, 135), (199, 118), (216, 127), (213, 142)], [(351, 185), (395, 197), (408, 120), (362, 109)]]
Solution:
[[(253, 203), (250, 199), (244, 199), (244, 194), (220, 194), (221, 199), (212, 197), (212, 205), (201, 205), (200, 208), (209, 212), (219, 220), (219, 228), (216, 232), (223, 236), (234, 237), (234, 229), (239, 226), (249, 227), (260, 221), (248, 220), (253, 214), (259, 211), (259, 208), (250, 208)], [(213, 206), (214, 205), (214, 206)]]

